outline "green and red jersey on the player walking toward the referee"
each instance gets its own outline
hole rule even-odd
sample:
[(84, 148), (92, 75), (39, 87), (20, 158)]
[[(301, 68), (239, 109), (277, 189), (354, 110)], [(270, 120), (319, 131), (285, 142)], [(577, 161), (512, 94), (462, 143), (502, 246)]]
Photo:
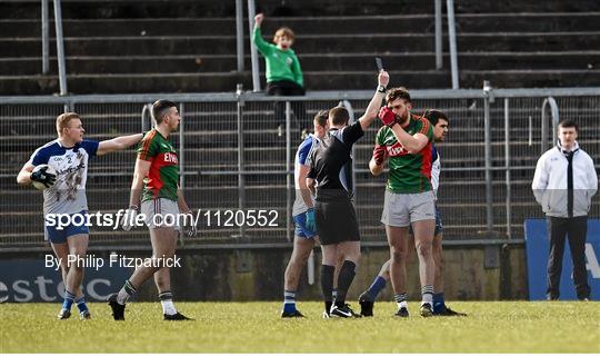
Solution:
[(138, 158), (150, 162), (150, 171), (143, 179), (141, 200), (167, 198), (177, 201), (179, 168), (177, 151), (171, 142), (152, 129), (142, 138)]

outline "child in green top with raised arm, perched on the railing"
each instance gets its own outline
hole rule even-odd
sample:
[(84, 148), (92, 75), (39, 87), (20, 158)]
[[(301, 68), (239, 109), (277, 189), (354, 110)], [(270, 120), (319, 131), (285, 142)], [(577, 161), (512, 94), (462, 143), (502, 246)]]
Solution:
[[(294, 40), (294, 33), (291, 29), (282, 27), (277, 30), (273, 42), (267, 42), (261, 34), (260, 24), (264, 14), (259, 13), (254, 17), (254, 32), (252, 40), (259, 52), (264, 57), (267, 63), (267, 95), (268, 96), (303, 96), (304, 79), (300, 61), (296, 52), (291, 49)], [(278, 123), (279, 136), (283, 132), (286, 122), (286, 108), (283, 101), (276, 101), (274, 116)], [(296, 125), (299, 129), (303, 128), (306, 120), (306, 109), (302, 101), (292, 101), (292, 110), (296, 116)]]

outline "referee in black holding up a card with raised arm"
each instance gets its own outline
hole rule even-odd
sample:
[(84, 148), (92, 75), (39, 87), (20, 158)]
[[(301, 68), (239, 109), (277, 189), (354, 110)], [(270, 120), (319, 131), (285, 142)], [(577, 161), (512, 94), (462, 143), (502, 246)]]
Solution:
[[(348, 125), (350, 116), (344, 108), (336, 107), (329, 110), (330, 130), (308, 158), (310, 171), (307, 185), (316, 194), (314, 220), (323, 250), (321, 268), (321, 288), (326, 303), (323, 317), (356, 316), (346, 304), (346, 294), (354, 279), (360, 258), (360, 234), (352, 205), (352, 146), (377, 118), (389, 81), (388, 72), (381, 70), (373, 98), (364, 115), (352, 125)], [(333, 271), (340, 259), (343, 259), (343, 264), (338, 276), (338, 294), (333, 304), (331, 296)]]

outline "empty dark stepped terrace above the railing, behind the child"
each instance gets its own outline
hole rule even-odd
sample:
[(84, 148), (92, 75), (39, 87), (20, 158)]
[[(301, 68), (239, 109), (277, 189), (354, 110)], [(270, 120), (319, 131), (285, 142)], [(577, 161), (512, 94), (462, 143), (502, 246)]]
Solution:
[[(246, 71), (237, 71), (234, 1), (62, 4), (71, 92), (251, 87), (246, 19)], [(266, 37), (282, 24), (297, 32), (308, 90), (370, 88), (376, 55), (409, 88), (451, 85), (446, 36), (444, 68), (436, 70), (433, 0), (264, 0), (257, 7), (267, 14)], [(0, 11), (0, 95), (58, 92), (53, 40), (51, 72), (41, 75), (39, 1), (2, 1)], [(461, 87), (481, 88), (483, 79), (501, 88), (600, 82), (598, 11), (594, 0), (456, 1)], [(53, 32), (51, 22), (52, 38)]]

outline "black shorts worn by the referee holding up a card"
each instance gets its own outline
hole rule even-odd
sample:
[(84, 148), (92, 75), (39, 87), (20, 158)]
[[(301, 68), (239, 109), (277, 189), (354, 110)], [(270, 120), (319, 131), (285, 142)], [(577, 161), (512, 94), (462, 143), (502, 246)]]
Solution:
[(349, 199), (314, 202), (314, 222), (321, 245), (360, 241), (354, 206)]

